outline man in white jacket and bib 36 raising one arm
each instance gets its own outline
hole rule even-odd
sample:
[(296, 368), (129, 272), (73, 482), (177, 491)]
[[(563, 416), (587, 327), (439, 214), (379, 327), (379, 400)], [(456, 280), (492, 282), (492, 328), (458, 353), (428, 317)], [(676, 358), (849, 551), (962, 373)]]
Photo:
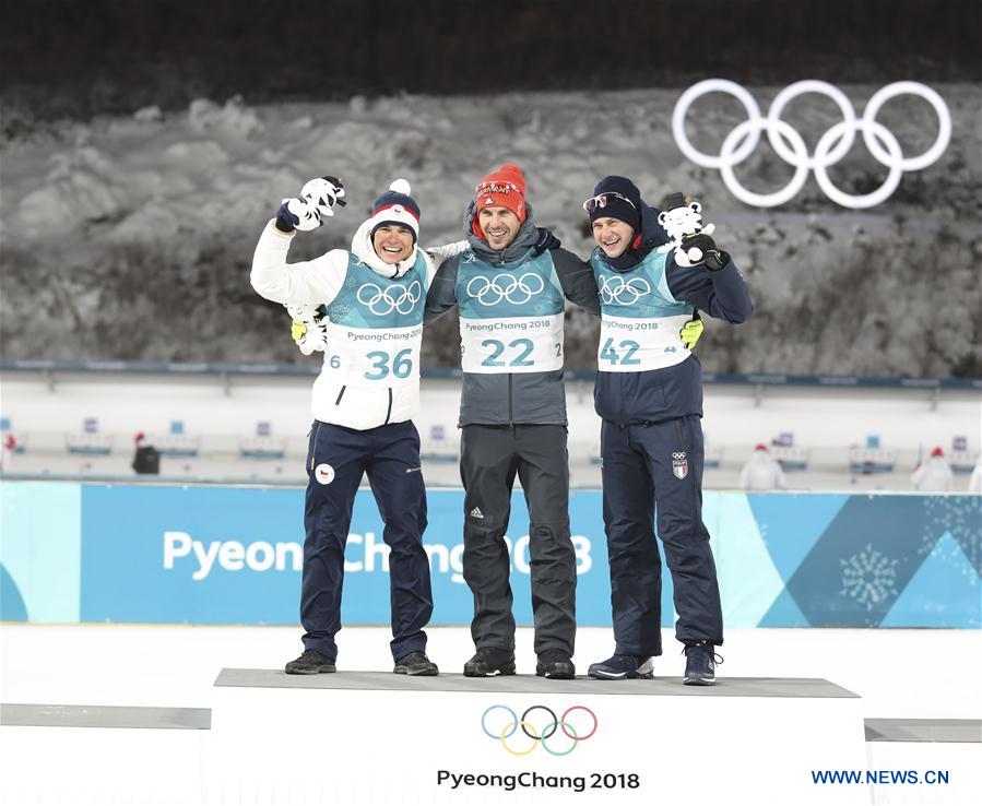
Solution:
[(419, 206), (409, 182), (400, 179), (376, 201), (350, 252), (333, 249), (287, 263), (295, 230), (320, 226), (343, 193), (332, 177), (308, 182), (265, 226), (252, 259), (252, 287), (263, 297), (327, 309), (327, 347), (313, 384), (306, 464), (305, 651), (286, 664), (286, 672), (335, 671), (344, 545), (355, 494), (367, 474), (391, 549), (394, 672), (436, 675), (423, 631), (433, 615), (433, 595), (423, 549), (419, 435), (411, 422), (419, 408), (419, 345), (434, 261), (416, 244)]

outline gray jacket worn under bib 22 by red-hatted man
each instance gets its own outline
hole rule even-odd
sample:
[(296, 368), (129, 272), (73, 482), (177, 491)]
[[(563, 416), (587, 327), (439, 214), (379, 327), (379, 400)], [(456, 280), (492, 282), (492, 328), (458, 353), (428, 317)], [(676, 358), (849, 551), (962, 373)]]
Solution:
[[(522, 226), (505, 249), (493, 250), (487, 241), (471, 230), (474, 221), (474, 202), (464, 215), (464, 233), (470, 249), (483, 261), (506, 271), (518, 270), (522, 263), (542, 253), (541, 236), (532, 222), (532, 208)], [(596, 283), (589, 263), (572, 252), (552, 249), (549, 256), (564, 296), (594, 316), (600, 316)], [(426, 298), (425, 322), (431, 322), (458, 304), (457, 275), (463, 254), (445, 261), (434, 277)], [(566, 389), (563, 370), (547, 372), (499, 372), (483, 375), (463, 374), (463, 391), (460, 399), (460, 420), (465, 425), (566, 425)]]

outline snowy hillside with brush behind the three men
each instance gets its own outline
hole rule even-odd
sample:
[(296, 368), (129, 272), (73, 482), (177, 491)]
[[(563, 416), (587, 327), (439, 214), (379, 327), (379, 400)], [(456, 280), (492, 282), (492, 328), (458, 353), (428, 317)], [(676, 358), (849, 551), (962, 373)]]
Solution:
[[(857, 109), (878, 88), (843, 87)], [(583, 256), (580, 209), (600, 177), (632, 177), (650, 202), (700, 197), (718, 241), (757, 306), (738, 329), (710, 327), (700, 354), (718, 371), (980, 376), (982, 110), (978, 88), (936, 86), (951, 108), (947, 153), (907, 174), (886, 203), (852, 213), (814, 179), (780, 212), (735, 200), (717, 171), (687, 164), (671, 133), (677, 90), (400, 96), (346, 104), (250, 108), (196, 100), (181, 114), (142, 109), (35, 131), (2, 144), (2, 354), (11, 358), (294, 361), (282, 309), (252, 293), (249, 263), (281, 198), (320, 174), (341, 176), (350, 205), (297, 238), (295, 260), (345, 246), (397, 176), (413, 183), (423, 241), (457, 239), (480, 177), (519, 163), (541, 225)], [(761, 106), (774, 88), (753, 88)], [(689, 134), (718, 150), (740, 122), (732, 100), (700, 102)], [(795, 102), (784, 118), (809, 147), (838, 120), (827, 100)], [(891, 102), (879, 121), (908, 154), (934, 140), (923, 102)], [(767, 145), (737, 169), (755, 190), (792, 168)], [(854, 145), (830, 170), (868, 192), (886, 169)], [(455, 324), (425, 339), (424, 360), (458, 360)], [(592, 366), (595, 322), (570, 313), (568, 355)]]

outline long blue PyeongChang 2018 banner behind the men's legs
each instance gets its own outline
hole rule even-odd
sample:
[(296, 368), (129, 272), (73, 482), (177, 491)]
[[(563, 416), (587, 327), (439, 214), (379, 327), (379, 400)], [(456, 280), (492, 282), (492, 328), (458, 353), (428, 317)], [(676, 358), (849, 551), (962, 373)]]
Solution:
[[(244, 487), (7, 482), (0, 617), (26, 621), (297, 624), (304, 493)], [(434, 625), (468, 625), (463, 493), (429, 493)], [(706, 494), (727, 627), (982, 626), (982, 498), (969, 495)], [(611, 624), (601, 494), (570, 497), (577, 614)], [(529, 522), (507, 532), (519, 624), (531, 625)], [(388, 548), (358, 493), (342, 617), (389, 623)], [(662, 624), (672, 579), (663, 565)]]

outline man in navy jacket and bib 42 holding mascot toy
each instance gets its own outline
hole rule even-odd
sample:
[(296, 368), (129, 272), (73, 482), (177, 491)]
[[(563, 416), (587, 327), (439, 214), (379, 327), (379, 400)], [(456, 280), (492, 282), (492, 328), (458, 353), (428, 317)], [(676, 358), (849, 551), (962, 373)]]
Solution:
[(649, 678), (652, 656), (662, 653), (656, 508), (675, 589), (675, 635), (687, 657), (685, 683), (712, 685), (723, 619), (701, 515), (702, 379), (679, 329), (697, 310), (738, 324), (753, 304), (730, 256), (709, 235), (691, 234), (681, 248), (667, 242), (670, 232), (701, 221), (698, 205), (675, 193), (662, 208), (661, 214), (651, 210), (634, 182), (614, 176), (584, 203), (598, 244), (590, 259), (602, 316), (594, 404), (603, 418), (603, 514), (616, 641), (614, 655), (591, 665), (589, 674)]

